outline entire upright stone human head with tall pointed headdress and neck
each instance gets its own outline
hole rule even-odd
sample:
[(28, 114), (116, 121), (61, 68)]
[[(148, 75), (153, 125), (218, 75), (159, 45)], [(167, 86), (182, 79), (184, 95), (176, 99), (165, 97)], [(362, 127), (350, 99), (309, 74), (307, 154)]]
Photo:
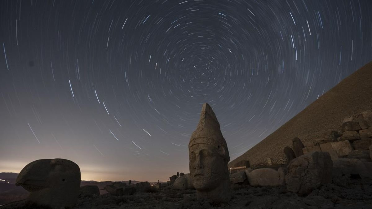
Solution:
[(231, 187), (227, 144), (212, 108), (204, 103), (199, 124), (189, 143), (189, 169), (197, 198), (228, 202)]

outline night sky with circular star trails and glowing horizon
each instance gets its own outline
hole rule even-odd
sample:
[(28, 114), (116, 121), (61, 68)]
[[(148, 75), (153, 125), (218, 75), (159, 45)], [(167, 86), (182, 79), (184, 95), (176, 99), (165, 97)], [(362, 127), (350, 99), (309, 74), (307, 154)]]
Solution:
[(371, 0), (2, 0), (0, 172), (65, 158), (82, 180), (166, 181), (189, 173), (205, 102), (233, 160), (372, 60), (371, 11)]

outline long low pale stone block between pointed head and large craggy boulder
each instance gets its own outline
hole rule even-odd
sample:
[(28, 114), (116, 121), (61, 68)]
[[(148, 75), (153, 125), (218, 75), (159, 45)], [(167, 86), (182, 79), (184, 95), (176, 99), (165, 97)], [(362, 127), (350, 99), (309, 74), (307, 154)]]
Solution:
[(284, 170), (273, 168), (258, 168), (247, 174), (251, 186), (280, 186), (284, 184)]

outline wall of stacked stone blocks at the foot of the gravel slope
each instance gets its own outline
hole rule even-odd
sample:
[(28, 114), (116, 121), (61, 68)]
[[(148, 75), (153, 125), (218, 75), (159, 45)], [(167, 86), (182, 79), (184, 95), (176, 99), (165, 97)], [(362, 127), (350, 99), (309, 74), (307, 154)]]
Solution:
[[(291, 142), (291, 140), (288, 140)], [(348, 116), (337, 130), (328, 129), (303, 136), (304, 154), (314, 151), (329, 152), (332, 160), (358, 158), (371, 161), (369, 147), (372, 145), (372, 110)], [(291, 147), (291, 146), (290, 146)], [(287, 158), (267, 158), (251, 165), (252, 169), (270, 165), (286, 164)]]

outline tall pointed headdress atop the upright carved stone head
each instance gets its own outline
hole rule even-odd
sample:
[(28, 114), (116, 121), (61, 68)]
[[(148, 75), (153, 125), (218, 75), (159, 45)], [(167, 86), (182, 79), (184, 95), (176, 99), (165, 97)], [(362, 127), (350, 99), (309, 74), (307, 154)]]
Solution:
[(212, 145), (225, 160), (230, 161), (227, 144), (222, 136), (217, 117), (208, 103), (203, 104), (199, 124), (191, 135), (189, 148), (196, 144)]

